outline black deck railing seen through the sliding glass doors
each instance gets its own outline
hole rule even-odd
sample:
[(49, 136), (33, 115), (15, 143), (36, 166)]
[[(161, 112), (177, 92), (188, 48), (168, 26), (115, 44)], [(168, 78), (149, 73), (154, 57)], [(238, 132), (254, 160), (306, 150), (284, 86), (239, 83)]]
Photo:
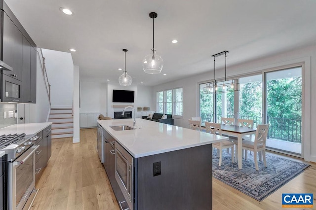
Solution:
[[(201, 114), (202, 122), (213, 122), (213, 114)], [(233, 115), (226, 117), (233, 118)], [(239, 116), (240, 119), (251, 119), (254, 121), (253, 127), (262, 124), (262, 117), (254, 116)], [(221, 115), (216, 115), (216, 122), (220, 122)], [(284, 140), (290, 142), (302, 142), (302, 120), (301, 119), (288, 119), (276, 118), (268, 116), (268, 123), (270, 124), (268, 139)]]

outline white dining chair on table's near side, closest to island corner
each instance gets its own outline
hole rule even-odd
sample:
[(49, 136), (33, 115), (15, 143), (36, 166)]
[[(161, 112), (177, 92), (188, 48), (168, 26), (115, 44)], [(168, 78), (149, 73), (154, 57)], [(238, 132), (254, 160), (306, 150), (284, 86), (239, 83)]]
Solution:
[[(222, 128), (220, 123), (212, 123), (212, 122), (205, 122), (205, 129), (207, 133), (220, 135), (222, 136)], [(223, 149), (232, 148), (232, 163), (235, 162), (234, 160), (234, 143), (230, 140), (221, 141), (212, 143), (212, 146), (217, 148), (217, 154), (219, 154), (219, 164), (218, 166), (222, 166), (222, 158), (223, 158)]]

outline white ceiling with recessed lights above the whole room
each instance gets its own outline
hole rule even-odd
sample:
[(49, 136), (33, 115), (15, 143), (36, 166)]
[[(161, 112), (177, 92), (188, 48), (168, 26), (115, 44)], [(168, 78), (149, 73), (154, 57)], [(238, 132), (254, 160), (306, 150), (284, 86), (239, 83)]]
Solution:
[[(80, 79), (118, 82), (124, 70), (132, 84), (157, 85), (213, 70), (211, 55), (230, 51), (229, 67), (316, 44), (315, 0), (6, 0), (38, 47), (72, 52)], [(59, 8), (68, 7), (68, 16)], [(155, 48), (160, 74), (142, 70)], [(178, 43), (171, 43), (172, 39)], [(224, 56), (216, 68), (223, 67)], [(166, 73), (167, 75), (162, 75)], [(211, 74), (213, 75), (213, 74)]]

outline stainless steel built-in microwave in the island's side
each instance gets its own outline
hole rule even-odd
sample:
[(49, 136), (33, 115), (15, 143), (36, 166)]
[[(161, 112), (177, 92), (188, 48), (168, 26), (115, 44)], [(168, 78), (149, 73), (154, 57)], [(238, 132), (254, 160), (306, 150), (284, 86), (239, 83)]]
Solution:
[[(133, 157), (119, 143), (115, 144), (115, 179), (124, 195), (124, 201), (118, 201), (122, 210), (133, 210)], [(122, 206), (127, 204), (128, 208)]]

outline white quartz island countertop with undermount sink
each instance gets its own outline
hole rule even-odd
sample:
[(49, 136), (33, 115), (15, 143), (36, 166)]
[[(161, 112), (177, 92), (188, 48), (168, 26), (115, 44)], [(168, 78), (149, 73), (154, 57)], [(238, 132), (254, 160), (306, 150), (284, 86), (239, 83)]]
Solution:
[(135, 158), (229, 139), (140, 118), (136, 119), (136, 129), (125, 131), (115, 131), (110, 126), (129, 125), (133, 127), (133, 119), (98, 120), (97, 122)]

